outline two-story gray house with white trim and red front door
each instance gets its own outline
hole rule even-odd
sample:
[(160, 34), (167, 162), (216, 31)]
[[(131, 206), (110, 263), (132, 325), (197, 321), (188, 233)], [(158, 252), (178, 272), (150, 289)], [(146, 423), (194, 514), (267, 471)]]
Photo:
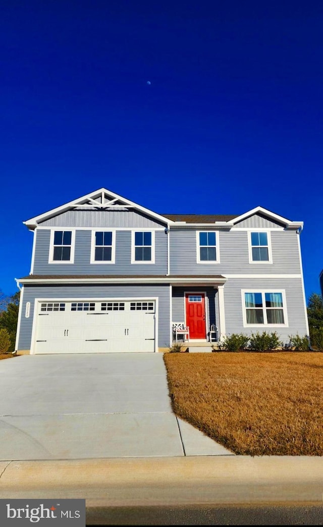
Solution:
[(24, 223), (34, 241), (17, 280), (21, 353), (158, 352), (174, 322), (189, 344), (214, 327), (218, 339), (309, 333), (302, 222), (261, 207), (158, 214), (103, 188)]

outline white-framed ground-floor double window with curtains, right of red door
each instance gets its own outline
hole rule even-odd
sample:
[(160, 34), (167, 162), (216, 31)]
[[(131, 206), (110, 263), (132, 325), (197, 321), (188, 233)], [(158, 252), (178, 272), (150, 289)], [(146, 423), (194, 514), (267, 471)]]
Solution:
[(285, 324), (282, 292), (245, 292), (246, 322), (256, 324)]

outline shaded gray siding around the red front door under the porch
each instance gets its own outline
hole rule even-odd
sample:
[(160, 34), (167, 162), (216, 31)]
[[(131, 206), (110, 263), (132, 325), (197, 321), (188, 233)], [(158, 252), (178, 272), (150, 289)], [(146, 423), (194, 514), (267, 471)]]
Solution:
[(216, 290), (213, 287), (173, 287), (172, 288), (172, 322), (185, 320), (185, 292), (205, 292), (207, 331), (211, 324), (216, 324)]

